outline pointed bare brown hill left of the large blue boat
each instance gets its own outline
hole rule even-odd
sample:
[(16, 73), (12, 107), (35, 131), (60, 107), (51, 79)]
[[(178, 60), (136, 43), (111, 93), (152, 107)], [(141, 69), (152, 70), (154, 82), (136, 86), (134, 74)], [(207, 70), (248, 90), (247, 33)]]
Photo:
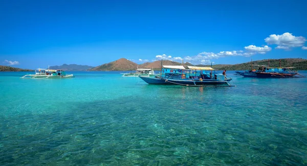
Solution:
[(136, 70), (138, 68), (138, 64), (128, 59), (121, 58), (116, 61), (105, 63), (100, 66), (91, 68), (89, 70), (92, 71), (129, 71)]

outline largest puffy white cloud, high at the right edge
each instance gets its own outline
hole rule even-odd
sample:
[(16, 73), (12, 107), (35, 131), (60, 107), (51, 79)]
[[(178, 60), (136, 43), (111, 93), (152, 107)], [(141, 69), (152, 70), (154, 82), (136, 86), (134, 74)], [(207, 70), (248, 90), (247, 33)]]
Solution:
[(286, 32), (282, 35), (270, 35), (265, 38), (268, 44), (276, 44), (275, 49), (289, 49), (304, 45), (306, 38), (302, 36), (293, 36), (291, 33)]

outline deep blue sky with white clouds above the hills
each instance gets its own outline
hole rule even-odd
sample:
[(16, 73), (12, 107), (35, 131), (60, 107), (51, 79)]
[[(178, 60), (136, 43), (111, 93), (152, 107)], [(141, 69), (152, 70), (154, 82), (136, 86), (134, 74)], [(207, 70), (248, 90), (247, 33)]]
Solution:
[(3, 0), (0, 65), (307, 59), (306, 6), (296, 0)]

